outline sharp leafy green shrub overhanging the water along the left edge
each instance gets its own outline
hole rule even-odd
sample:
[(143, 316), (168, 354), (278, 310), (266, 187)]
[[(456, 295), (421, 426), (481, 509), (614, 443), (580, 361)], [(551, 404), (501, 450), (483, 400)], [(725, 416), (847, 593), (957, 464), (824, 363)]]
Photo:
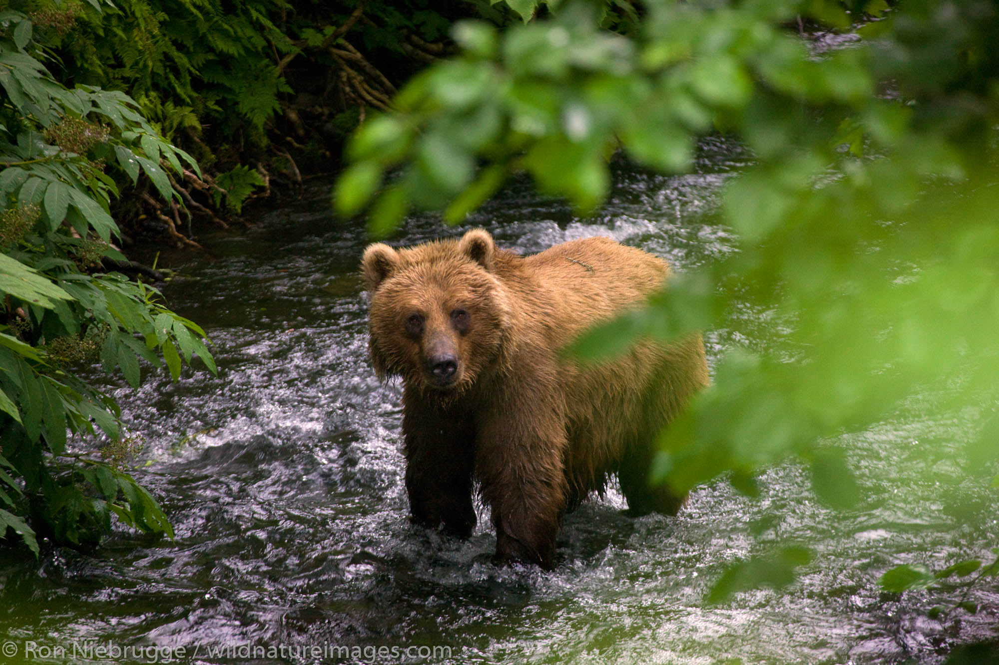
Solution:
[(119, 184), (142, 176), (171, 201), (168, 173), (197, 164), (124, 93), (57, 82), (34, 16), (0, 13), (0, 539), (13, 528), (38, 553), (36, 532), (89, 543), (112, 513), (172, 533), (123, 471), (135, 442), (117, 404), (80, 368), (100, 360), (137, 386), (140, 359), (165, 361), (175, 378), (182, 357), (214, 364), (197, 325), (105, 269), (125, 261), (109, 214)]

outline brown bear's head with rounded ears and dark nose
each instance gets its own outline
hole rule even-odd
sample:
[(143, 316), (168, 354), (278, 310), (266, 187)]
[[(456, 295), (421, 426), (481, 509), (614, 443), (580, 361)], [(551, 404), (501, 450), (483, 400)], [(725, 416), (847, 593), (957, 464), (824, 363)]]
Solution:
[(380, 378), (442, 396), (460, 394), (500, 357), (509, 329), (505, 290), (494, 272), (493, 237), (474, 229), (461, 240), (365, 251), (371, 294), (370, 349)]

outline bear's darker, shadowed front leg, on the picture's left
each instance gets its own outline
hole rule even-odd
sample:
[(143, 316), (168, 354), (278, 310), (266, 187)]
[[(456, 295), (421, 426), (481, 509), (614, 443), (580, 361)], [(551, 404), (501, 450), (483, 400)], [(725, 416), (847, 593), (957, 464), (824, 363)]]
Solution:
[(416, 397), (409, 390), (403, 397), (410, 512), (418, 524), (437, 528), (443, 523), (448, 533), (468, 538), (476, 526), (471, 418), (455, 409), (421, 403)]

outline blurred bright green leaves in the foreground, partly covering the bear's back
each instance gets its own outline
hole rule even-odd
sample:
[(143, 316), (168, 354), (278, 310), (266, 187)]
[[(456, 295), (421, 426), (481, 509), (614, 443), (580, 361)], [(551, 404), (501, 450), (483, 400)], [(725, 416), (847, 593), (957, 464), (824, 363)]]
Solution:
[[(795, 457), (821, 499), (854, 505), (863, 489), (834, 437), (890, 420), (914, 393), (930, 391), (927, 408), (940, 412), (994, 403), (999, 7), (662, 0), (607, 30), (615, 6), (548, 3), (501, 33), (458, 24), (461, 54), (358, 131), (335, 206), (354, 215), (370, 205), (370, 228), (385, 236), (411, 205), (461, 222), (526, 172), (586, 212), (607, 195), (615, 151), (682, 172), (698, 136), (737, 137), (755, 160), (724, 187), (722, 215), (741, 251), (680, 276), (574, 351), (596, 359), (640, 335), (723, 327), (736, 303), (770, 313), (787, 331), (779, 348), (720, 358), (711, 388), (663, 433), (655, 479), (687, 489), (727, 474), (752, 494), (761, 469)], [(802, 21), (862, 27), (822, 49)], [(995, 421), (963, 455), (983, 483), (999, 456)], [(797, 547), (763, 554), (711, 599), (786, 584), (808, 560)], [(918, 587), (972, 566), (996, 574), (979, 565), (899, 568), (884, 584)]]

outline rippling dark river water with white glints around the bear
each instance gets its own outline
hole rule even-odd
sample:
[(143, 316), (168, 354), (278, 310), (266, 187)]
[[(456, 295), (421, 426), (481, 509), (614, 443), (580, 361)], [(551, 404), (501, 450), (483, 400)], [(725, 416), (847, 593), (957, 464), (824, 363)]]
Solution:
[[(618, 165), (611, 201), (589, 219), (514, 183), (471, 224), (522, 253), (606, 235), (689, 270), (735, 251), (716, 194), (744, 161), (716, 140), (691, 175)], [(995, 639), (994, 584), (967, 595), (877, 586), (898, 563), (991, 560), (995, 494), (954, 458), (982, 416), (974, 406), (930, 417), (903, 405), (897, 421), (847, 435), (870, 489), (855, 511), (823, 506), (790, 463), (762, 477), (757, 498), (717, 480), (675, 517), (625, 516), (611, 490), (566, 517), (553, 572), (494, 565), (482, 508), (464, 542), (411, 525), (401, 390), (366, 355), (357, 269), (369, 240), (332, 216), (329, 185), (258, 211), (249, 230), (201, 238), (211, 259), (161, 257), (182, 275), (163, 291), (211, 335), (219, 375), (186, 368), (171, 383), (147, 371), (139, 390), (111, 389), (144, 438), (136, 474), (176, 539), (116, 529), (94, 553), (50, 548), (37, 563), (0, 550), (0, 641), (19, 649), (4, 662), (143, 662), (81, 655), (97, 641), (184, 647), (180, 662), (213, 664), (880, 665), (940, 663), (955, 645)], [(392, 242), (466, 228), (415, 217)], [(743, 313), (707, 333), (709, 354), (765, 328)], [(726, 565), (769, 542), (813, 549), (797, 582), (705, 603)], [(927, 616), (961, 600), (978, 613)]]

